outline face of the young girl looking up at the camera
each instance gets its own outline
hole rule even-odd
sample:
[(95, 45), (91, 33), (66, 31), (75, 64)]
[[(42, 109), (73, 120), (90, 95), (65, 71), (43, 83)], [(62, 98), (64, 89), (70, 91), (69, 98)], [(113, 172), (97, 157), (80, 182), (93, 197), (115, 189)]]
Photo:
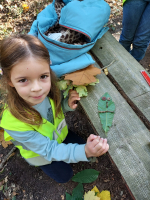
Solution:
[(41, 103), (51, 88), (49, 64), (33, 57), (21, 61), (11, 70), (9, 85), (31, 106)]

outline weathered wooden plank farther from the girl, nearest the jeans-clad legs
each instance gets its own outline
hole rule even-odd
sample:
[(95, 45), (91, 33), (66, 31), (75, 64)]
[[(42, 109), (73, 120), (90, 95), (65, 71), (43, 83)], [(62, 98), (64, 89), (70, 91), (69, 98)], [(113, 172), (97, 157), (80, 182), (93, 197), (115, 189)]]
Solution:
[(126, 95), (150, 122), (150, 87), (141, 75), (143, 67), (107, 32), (92, 49), (92, 53), (121, 86)]

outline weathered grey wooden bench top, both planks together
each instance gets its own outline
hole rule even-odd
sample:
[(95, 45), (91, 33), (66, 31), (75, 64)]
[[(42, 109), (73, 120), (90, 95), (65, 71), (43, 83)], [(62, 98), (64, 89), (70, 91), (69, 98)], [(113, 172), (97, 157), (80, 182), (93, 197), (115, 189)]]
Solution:
[[(150, 119), (150, 87), (140, 74), (142, 66), (108, 32), (92, 49), (141, 112)], [(99, 65), (96, 63), (96, 67)], [(106, 137), (98, 116), (98, 100), (108, 92), (116, 105), (113, 125), (107, 133), (109, 154), (136, 200), (150, 199), (150, 131), (108, 77), (88, 86), (88, 96), (80, 104), (101, 137)], [(148, 109), (148, 110), (147, 110)]]

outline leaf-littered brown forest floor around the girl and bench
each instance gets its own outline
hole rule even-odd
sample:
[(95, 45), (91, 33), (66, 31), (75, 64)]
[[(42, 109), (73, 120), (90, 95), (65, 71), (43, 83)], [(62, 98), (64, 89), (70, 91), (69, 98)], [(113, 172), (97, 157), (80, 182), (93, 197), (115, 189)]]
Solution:
[[(49, 4), (48, 0), (2, 0), (0, 2), (0, 40), (12, 33), (28, 33), (37, 14)], [(119, 40), (122, 30), (122, 0), (107, 0), (111, 6), (111, 16), (108, 22), (110, 32)], [(24, 6), (22, 6), (24, 4)], [(29, 8), (28, 8), (29, 6)], [(150, 48), (140, 62), (145, 70), (150, 72)], [(66, 115), (68, 126), (83, 139), (93, 133), (93, 129), (86, 116), (79, 107), (75, 112)], [(0, 145), (0, 162), (8, 154), (13, 145), (3, 148)], [(84, 169), (100, 171), (98, 179), (91, 184), (83, 184), (84, 191), (91, 190), (95, 185), (102, 190), (109, 190), (112, 200), (133, 200), (129, 189), (111, 161), (108, 153), (99, 157), (95, 163), (79, 162), (71, 164), (74, 174)], [(64, 200), (65, 192), (72, 194), (77, 183), (69, 181), (58, 184), (45, 175), (38, 167), (29, 166), (20, 156), (18, 150), (9, 158), (0, 171), (0, 199), (1, 200)]]

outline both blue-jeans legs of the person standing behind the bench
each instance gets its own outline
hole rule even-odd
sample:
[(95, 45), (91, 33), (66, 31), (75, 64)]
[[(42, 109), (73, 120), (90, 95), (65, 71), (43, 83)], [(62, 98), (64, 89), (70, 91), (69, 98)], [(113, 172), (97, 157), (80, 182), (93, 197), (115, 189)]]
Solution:
[(150, 1), (126, 1), (123, 6), (123, 30), (119, 42), (137, 61), (140, 61), (145, 56), (149, 41)]

